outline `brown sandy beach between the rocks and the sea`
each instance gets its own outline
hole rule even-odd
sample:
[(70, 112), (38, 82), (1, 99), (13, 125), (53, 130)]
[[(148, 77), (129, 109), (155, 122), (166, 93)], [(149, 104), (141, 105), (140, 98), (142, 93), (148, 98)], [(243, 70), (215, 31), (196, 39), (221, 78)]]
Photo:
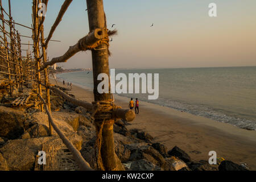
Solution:
[[(56, 84), (55, 80), (51, 80)], [(59, 86), (63, 86), (58, 81)], [(66, 85), (67, 86), (67, 83)], [(92, 91), (73, 85), (69, 93), (77, 99), (92, 102)], [(115, 104), (128, 108), (129, 98), (114, 96)], [(240, 129), (228, 123), (184, 113), (160, 105), (140, 101), (139, 114), (127, 129), (141, 129), (171, 150), (178, 146), (193, 160), (208, 160), (209, 151), (234, 163), (246, 163), (256, 169), (256, 131)]]

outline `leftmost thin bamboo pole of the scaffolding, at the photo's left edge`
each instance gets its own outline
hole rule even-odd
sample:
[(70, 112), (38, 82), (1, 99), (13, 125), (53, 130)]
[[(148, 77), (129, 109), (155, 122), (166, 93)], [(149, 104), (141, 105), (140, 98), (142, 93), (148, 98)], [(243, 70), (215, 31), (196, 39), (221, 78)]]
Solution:
[(7, 43), (7, 38), (6, 38), (6, 32), (5, 32), (5, 16), (3, 15), (3, 9), (2, 9), (2, 0), (0, 0), (1, 4), (1, 16), (2, 16), (2, 27), (3, 27), (3, 38), (5, 39), (5, 54), (6, 54), (6, 62), (7, 62), (7, 69), (8, 69), (8, 79), (9, 79), (9, 91), (10, 91), (10, 96), (13, 92), (11, 89), (11, 75), (10, 75), (10, 63), (9, 63), (9, 52), (8, 52), (8, 43)]

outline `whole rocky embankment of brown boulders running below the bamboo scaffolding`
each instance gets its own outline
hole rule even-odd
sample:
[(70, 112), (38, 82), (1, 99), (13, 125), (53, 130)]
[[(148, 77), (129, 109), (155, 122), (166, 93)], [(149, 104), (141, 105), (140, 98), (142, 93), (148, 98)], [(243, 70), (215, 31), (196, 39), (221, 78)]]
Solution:
[[(92, 168), (96, 168), (94, 143), (96, 140), (93, 120), (89, 111), (77, 107), (63, 98), (52, 95), (52, 115), (60, 130), (81, 152)], [(171, 150), (161, 143), (154, 143), (150, 134), (139, 129), (127, 130), (130, 125), (122, 119), (114, 124), (115, 153), (127, 170), (166, 171), (233, 171), (246, 168), (224, 160), (220, 165), (209, 165), (207, 161), (194, 161), (175, 146)], [(48, 116), (39, 110), (26, 111), (0, 106), (0, 171), (39, 170), (38, 151), (48, 146), (49, 151), (64, 148), (61, 139), (53, 133), (48, 137)], [(59, 155), (51, 153), (52, 170), (63, 168), (63, 160), (53, 160)], [(47, 159), (50, 159), (49, 157)], [(69, 165), (70, 166), (70, 165)], [(75, 165), (76, 166), (76, 165)], [(42, 169), (42, 168), (41, 168)], [(75, 168), (72, 168), (75, 169)]]

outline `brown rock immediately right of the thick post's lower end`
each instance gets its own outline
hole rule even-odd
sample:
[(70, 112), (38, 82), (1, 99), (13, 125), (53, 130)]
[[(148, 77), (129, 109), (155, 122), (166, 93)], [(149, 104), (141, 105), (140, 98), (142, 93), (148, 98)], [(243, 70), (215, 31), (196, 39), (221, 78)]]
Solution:
[(130, 159), (131, 151), (126, 147), (121, 141), (114, 141), (115, 145), (115, 154), (117, 154), (118, 158), (122, 163), (128, 162)]

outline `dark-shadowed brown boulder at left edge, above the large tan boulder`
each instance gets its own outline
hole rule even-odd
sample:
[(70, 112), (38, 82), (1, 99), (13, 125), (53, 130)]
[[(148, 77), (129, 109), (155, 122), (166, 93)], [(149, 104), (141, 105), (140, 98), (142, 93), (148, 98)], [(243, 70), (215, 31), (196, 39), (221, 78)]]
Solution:
[(16, 109), (0, 106), (0, 137), (16, 139), (24, 133), (26, 115)]

